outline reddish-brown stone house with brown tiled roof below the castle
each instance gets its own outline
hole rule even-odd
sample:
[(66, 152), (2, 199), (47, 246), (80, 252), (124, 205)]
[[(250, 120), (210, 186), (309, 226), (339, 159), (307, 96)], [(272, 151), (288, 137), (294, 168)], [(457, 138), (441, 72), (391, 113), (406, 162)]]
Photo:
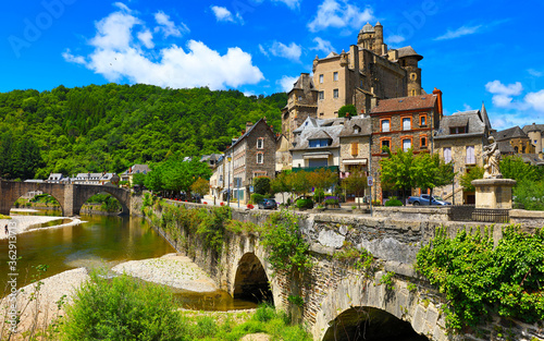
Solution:
[(387, 157), (384, 148), (392, 153), (403, 148), (413, 149), (413, 154), (432, 153), (433, 131), (442, 119), (442, 92), (432, 95), (383, 99), (370, 112), (372, 129), (372, 169), (374, 193), (379, 200), (392, 193), (383, 192), (380, 183), (380, 160)]

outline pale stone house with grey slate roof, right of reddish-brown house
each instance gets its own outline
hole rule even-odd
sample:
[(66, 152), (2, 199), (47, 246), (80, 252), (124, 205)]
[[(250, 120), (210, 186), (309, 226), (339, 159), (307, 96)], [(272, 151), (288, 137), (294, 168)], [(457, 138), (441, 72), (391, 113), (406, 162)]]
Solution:
[(473, 192), (465, 192), (460, 178), (477, 166), (483, 167), (483, 147), (492, 126), (485, 106), (481, 110), (456, 112), (443, 117), (434, 136), (434, 151), (438, 153), (445, 162), (452, 162), (457, 172), (454, 183), (435, 188), (434, 193), (454, 204), (474, 204)]

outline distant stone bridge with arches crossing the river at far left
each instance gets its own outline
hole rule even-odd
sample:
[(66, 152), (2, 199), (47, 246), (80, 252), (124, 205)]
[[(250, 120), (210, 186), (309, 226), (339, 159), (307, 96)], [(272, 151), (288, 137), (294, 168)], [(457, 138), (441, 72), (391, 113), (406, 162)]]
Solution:
[(41, 191), (51, 195), (59, 202), (62, 214), (71, 217), (79, 214), (82, 206), (97, 193), (109, 193), (115, 197), (123, 207), (123, 212), (128, 214), (131, 207), (131, 192), (123, 188), (101, 185), (32, 183), (0, 180), (0, 214), (10, 215), (10, 209), (16, 199), (25, 193)]

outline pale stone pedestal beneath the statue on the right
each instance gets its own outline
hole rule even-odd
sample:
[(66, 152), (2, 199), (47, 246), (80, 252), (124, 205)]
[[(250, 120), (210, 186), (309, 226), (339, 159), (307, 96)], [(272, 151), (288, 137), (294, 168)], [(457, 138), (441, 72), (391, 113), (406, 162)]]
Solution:
[(511, 188), (516, 180), (479, 179), (472, 181), (477, 208), (511, 209)]

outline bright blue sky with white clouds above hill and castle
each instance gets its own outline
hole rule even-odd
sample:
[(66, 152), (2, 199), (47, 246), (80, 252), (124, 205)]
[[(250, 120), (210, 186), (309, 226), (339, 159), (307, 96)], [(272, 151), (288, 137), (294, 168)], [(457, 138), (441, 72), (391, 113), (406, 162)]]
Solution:
[(9, 1), (0, 92), (88, 84), (287, 90), (380, 21), (412, 46), (446, 114), (485, 102), (495, 129), (544, 123), (544, 2), (495, 0)]

